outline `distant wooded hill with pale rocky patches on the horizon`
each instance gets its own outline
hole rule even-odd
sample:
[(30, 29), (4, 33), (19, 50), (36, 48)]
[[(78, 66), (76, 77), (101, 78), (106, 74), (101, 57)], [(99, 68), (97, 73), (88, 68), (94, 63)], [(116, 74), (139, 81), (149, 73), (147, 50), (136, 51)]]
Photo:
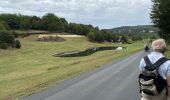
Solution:
[(113, 33), (157, 33), (158, 29), (152, 25), (122, 26), (112, 29), (105, 29)]

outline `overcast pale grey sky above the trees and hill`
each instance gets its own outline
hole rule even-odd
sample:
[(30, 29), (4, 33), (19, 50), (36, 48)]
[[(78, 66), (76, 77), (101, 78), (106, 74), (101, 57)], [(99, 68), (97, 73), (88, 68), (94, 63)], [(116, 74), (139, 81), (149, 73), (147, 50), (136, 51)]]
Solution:
[(151, 24), (151, 0), (1, 0), (0, 13), (43, 16), (51, 12), (69, 22), (100, 28)]

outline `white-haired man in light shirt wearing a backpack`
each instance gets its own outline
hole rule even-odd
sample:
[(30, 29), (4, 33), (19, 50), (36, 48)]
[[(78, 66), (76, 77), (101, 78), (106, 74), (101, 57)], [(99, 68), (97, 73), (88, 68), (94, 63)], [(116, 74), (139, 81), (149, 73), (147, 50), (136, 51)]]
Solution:
[(153, 41), (152, 48), (139, 65), (141, 100), (170, 100), (170, 60), (164, 57), (164, 39)]

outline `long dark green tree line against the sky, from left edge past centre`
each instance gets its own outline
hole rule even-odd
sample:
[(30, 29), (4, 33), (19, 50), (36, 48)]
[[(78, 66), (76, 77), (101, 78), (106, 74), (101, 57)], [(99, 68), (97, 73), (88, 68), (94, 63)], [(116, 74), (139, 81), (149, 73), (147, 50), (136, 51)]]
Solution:
[(21, 14), (0, 14), (0, 30), (47, 30), (50, 32), (68, 32), (78, 35), (85, 35), (93, 42), (116, 42), (118, 35), (92, 25), (68, 23), (53, 13), (45, 14), (42, 17), (27, 16)]

